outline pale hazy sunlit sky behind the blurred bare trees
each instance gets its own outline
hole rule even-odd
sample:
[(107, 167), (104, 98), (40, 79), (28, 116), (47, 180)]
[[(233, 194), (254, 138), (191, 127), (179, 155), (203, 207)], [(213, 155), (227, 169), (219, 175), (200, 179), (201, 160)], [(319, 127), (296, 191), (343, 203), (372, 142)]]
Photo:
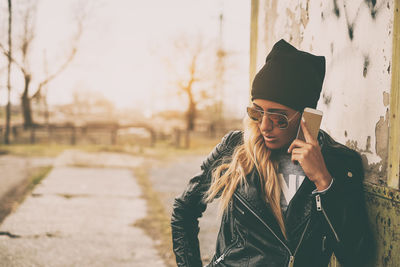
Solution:
[[(44, 48), (50, 71), (63, 62), (74, 25), (73, 2), (40, 0), (33, 67), (43, 69), (40, 61)], [(246, 105), (250, 1), (94, 2), (96, 5), (89, 13), (78, 54), (68, 69), (48, 86), (50, 104), (71, 102), (72, 92), (90, 90), (100, 92), (118, 108), (184, 109), (182, 101), (167, 99), (172, 78), (163, 59), (179, 57), (179, 54), (170, 55), (170, 51), (174, 38), (181, 34), (201, 34), (206, 40), (217, 39), (222, 11), (223, 44), (230, 55), (229, 64), (234, 65), (225, 76), (224, 97), (227, 108)], [(20, 76), (15, 74), (14, 80), (18, 78)], [(18, 99), (16, 94), (14, 98)]]

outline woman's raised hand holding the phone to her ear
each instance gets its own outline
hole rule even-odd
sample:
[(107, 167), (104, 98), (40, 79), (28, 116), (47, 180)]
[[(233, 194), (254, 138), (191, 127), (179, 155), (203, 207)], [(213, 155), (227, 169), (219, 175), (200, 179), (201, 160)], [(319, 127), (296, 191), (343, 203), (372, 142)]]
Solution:
[(324, 190), (331, 183), (332, 176), (326, 168), (318, 141), (311, 136), (303, 119), (300, 124), (306, 142), (295, 139), (289, 146), (288, 153), (292, 153), (292, 161), (297, 160), (300, 163), (304, 173), (314, 182), (317, 190)]

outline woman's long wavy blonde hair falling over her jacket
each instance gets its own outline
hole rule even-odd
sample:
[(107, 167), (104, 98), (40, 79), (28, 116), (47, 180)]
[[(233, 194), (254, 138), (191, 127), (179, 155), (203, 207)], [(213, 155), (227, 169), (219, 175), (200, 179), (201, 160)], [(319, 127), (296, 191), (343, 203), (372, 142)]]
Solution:
[(258, 124), (245, 118), (243, 144), (235, 148), (230, 163), (222, 163), (212, 171), (212, 183), (207, 191), (206, 201), (211, 201), (221, 193), (220, 211), (223, 212), (237, 186), (245, 186), (246, 175), (256, 168), (263, 197), (271, 206), (279, 227), (287, 238), (280, 205), (281, 186), (276, 173), (278, 165), (271, 158), (271, 153), (272, 150), (265, 146)]

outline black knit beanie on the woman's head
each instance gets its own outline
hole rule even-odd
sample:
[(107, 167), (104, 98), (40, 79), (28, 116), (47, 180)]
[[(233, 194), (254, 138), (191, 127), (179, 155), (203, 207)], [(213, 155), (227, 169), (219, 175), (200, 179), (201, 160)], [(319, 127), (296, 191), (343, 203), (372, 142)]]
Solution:
[(256, 74), (251, 100), (266, 99), (303, 111), (316, 108), (325, 77), (325, 57), (297, 50), (281, 39)]

